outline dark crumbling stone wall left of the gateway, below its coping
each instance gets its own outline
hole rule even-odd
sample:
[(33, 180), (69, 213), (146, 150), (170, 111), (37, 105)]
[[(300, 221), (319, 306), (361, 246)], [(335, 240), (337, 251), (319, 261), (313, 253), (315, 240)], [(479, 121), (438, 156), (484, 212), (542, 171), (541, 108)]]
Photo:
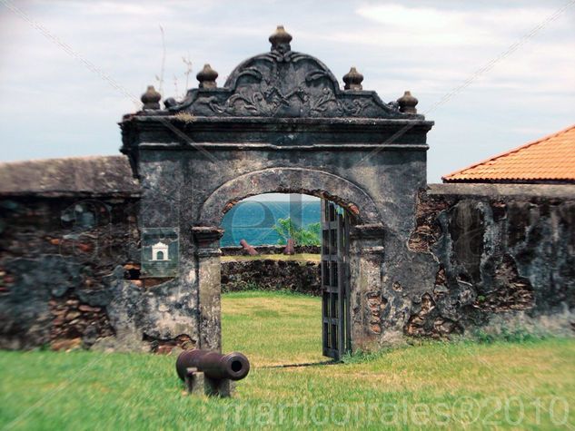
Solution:
[(106, 280), (139, 258), (136, 208), (134, 197), (0, 199), (0, 347), (90, 347), (115, 334)]

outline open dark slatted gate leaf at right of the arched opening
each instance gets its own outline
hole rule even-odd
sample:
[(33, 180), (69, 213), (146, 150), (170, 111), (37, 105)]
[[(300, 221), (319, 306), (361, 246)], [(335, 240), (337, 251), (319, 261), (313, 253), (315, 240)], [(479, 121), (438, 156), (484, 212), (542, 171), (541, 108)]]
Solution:
[(351, 350), (349, 233), (347, 211), (322, 200), (322, 344), (336, 360)]

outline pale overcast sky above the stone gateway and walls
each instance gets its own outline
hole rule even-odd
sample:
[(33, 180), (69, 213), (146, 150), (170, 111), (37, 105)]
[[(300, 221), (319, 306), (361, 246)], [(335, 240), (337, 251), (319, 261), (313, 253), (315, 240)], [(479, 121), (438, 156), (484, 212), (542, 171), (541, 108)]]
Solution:
[(0, 0), (0, 160), (117, 154), (117, 122), (147, 84), (159, 85), (160, 25), (162, 93), (177, 98), (183, 56), (193, 64), (189, 87), (204, 63), (222, 85), (284, 24), (292, 50), (337, 77), (357, 66), (363, 88), (386, 102), (411, 90), (435, 121), (428, 179), (437, 182), (575, 123), (573, 3)]

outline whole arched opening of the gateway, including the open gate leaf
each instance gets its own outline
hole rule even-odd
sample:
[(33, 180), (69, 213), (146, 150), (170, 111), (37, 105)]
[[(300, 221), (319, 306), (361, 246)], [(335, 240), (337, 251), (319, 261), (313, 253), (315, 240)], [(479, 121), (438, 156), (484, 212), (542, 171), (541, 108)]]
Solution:
[[(256, 195), (227, 210), (220, 225), (223, 350), (243, 349), (264, 366), (339, 359), (348, 350), (355, 215), (293, 193)], [(262, 337), (247, 336), (254, 333)]]

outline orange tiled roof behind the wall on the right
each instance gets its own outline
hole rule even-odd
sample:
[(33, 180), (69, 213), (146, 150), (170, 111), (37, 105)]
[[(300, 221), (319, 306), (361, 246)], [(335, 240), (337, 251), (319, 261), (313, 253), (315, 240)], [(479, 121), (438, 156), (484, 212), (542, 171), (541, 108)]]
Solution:
[(443, 182), (575, 182), (575, 124), (441, 179)]

